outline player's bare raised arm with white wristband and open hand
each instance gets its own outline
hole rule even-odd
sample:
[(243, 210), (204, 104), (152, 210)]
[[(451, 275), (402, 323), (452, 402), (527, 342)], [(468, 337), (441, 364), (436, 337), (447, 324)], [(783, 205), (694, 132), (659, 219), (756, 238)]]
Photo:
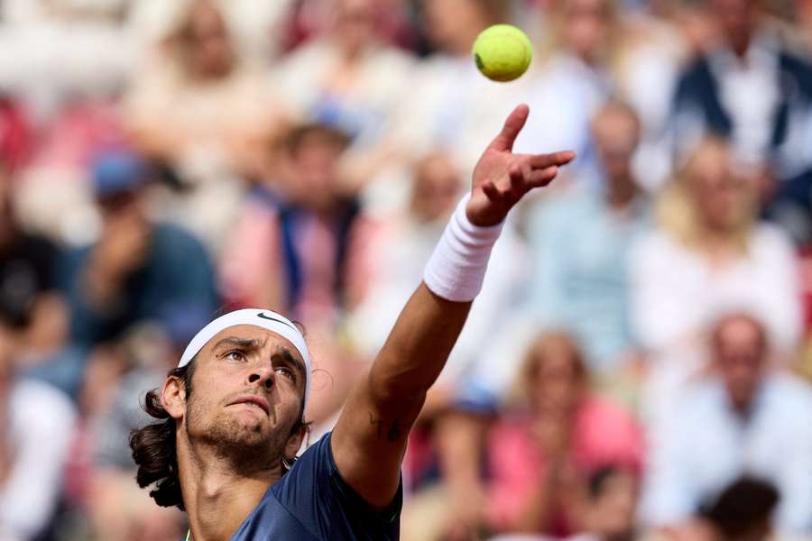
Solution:
[[(370, 371), (346, 401), (332, 436), (344, 480), (374, 507), (390, 504), (426, 391), (437, 379), (482, 285), (484, 266), (508, 211), (546, 186), (572, 152), (513, 154), (529, 109), (520, 105), (484, 151), (465, 206), (457, 208), (426, 272)], [(427, 285), (428, 282), (428, 285)]]

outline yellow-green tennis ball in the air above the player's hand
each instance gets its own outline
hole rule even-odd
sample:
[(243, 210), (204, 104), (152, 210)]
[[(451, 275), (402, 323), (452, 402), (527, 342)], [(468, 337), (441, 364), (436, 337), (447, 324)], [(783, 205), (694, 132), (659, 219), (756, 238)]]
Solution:
[(507, 82), (530, 67), (533, 46), (527, 34), (511, 24), (494, 24), (474, 41), (476, 67), (486, 78)]

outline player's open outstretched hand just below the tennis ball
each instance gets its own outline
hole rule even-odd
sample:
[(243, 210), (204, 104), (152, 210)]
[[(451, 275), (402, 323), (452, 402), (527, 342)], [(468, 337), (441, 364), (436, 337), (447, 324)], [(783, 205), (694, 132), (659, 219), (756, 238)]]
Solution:
[(527, 122), (530, 108), (519, 105), (504, 123), (474, 170), (471, 200), (466, 207), (474, 225), (502, 222), (512, 206), (533, 188), (547, 186), (558, 174), (558, 167), (575, 159), (575, 152), (552, 154), (513, 154), (513, 142)]

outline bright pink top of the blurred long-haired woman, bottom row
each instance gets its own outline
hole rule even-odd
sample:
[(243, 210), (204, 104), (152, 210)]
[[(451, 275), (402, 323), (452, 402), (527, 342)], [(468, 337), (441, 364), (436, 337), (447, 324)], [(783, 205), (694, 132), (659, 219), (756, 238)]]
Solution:
[[(504, 417), (488, 436), (488, 518), (499, 531), (510, 531), (514, 527), (522, 511), (531, 504), (549, 468), (549, 458), (534, 441), (531, 426), (529, 415)], [(629, 412), (611, 402), (595, 397), (585, 399), (575, 414), (571, 438), (567, 460), (585, 481), (591, 473), (607, 465), (641, 470), (641, 428)], [(555, 517), (552, 522), (563, 525), (566, 530), (571, 518)]]

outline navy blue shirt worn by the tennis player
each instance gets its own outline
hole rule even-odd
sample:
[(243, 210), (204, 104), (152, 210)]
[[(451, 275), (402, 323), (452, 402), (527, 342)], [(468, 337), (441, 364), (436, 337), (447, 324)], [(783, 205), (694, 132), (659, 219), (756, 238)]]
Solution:
[(231, 541), (399, 538), (402, 486), (388, 509), (373, 509), (341, 478), (331, 435), (305, 451), (291, 471), (265, 492)]

